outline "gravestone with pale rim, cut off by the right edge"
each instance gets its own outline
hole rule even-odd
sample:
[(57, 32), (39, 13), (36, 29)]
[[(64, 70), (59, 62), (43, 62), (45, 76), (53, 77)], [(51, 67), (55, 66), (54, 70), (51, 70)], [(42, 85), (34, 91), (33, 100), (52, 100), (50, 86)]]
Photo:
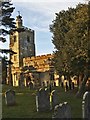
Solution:
[(82, 117), (90, 120), (90, 92), (85, 92), (83, 95)]

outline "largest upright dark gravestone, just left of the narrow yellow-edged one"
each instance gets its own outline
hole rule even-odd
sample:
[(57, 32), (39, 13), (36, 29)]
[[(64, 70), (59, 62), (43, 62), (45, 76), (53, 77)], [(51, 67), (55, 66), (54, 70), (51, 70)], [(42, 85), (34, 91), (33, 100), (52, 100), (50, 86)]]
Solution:
[(50, 110), (50, 100), (48, 89), (39, 89), (36, 95), (36, 108), (37, 111)]

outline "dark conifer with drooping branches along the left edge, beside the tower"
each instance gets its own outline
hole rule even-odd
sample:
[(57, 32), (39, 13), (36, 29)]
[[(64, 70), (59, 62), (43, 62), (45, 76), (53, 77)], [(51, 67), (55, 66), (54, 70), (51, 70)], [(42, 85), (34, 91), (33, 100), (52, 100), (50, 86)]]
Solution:
[[(14, 18), (11, 17), (15, 7), (12, 7), (12, 5), (10, 0), (0, 0), (0, 42), (6, 42), (7, 35), (15, 28)], [(10, 49), (0, 49), (0, 52), (15, 54), (15, 52)], [(2, 60), (2, 82), (6, 83), (7, 64), (12, 63), (10, 60), (7, 60), (6, 57), (2, 58)]]

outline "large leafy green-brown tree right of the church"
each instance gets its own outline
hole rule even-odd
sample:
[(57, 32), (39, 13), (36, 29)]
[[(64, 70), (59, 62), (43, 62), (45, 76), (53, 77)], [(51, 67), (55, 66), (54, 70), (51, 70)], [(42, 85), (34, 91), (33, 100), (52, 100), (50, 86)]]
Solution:
[(87, 66), (90, 60), (88, 8), (88, 4), (78, 4), (76, 8), (60, 11), (56, 13), (56, 19), (50, 25), (50, 31), (53, 33), (52, 42), (56, 48), (56, 70), (69, 76), (84, 74), (84, 86), (89, 75)]

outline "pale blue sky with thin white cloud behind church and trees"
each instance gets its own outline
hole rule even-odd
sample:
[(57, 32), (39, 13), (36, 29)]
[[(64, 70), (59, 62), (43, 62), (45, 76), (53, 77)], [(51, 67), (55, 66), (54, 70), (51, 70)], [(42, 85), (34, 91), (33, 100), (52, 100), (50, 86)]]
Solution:
[[(35, 30), (36, 55), (43, 55), (55, 51), (49, 30), (55, 13), (85, 3), (85, 0), (12, 0), (12, 3), (15, 7), (12, 16), (16, 18), (20, 11), (23, 26)], [(6, 43), (0, 42), (0, 48), (9, 48), (9, 40)]]

